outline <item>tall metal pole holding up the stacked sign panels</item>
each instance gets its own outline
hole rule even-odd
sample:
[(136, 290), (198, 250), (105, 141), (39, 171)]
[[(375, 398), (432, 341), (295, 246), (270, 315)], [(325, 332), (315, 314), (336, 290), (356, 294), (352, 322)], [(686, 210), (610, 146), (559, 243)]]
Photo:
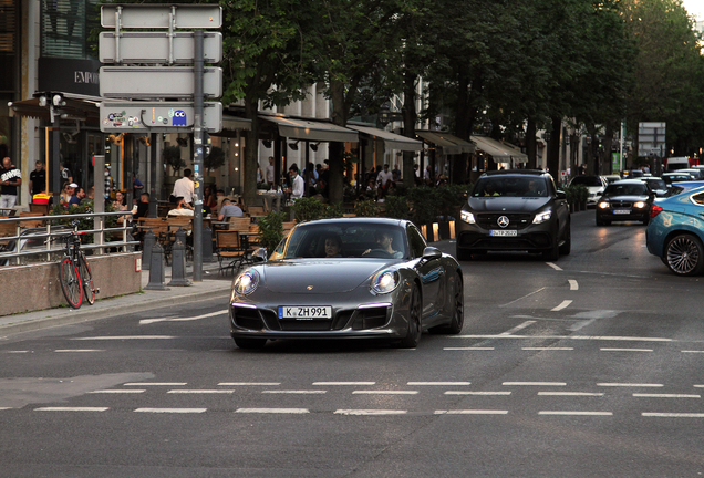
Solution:
[(194, 177), (196, 178), (193, 220), (193, 280), (203, 281), (203, 30), (194, 31)]

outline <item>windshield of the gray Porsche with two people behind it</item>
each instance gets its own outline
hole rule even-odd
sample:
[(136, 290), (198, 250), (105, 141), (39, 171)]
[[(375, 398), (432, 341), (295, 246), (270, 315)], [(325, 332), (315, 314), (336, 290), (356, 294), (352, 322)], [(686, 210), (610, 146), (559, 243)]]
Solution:
[(387, 258), (407, 256), (401, 227), (348, 222), (299, 226), (291, 232), (284, 259)]

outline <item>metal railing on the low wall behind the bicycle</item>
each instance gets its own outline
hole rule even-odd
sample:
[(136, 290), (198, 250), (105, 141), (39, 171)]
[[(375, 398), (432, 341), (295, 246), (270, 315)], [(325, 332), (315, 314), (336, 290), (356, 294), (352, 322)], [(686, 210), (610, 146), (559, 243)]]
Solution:
[[(20, 259), (32, 256), (45, 256), (46, 261), (51, 261), (51, 256), (62, 253), (65, 250), (63, 241), (56, 240), (68, 236), (72, 230), (71, 226), (65, 224), (66, 219), (86, 219), (93, 218), (94, 229), (82, 229), (85, 233), (93, 235), (93, 243), (81, 245), (82, 250), (97, 250), (97, 254), (105, 253), (105, 249), (118, 248), (122, 252), (127, 252), (130, 248), (138, 245), (139, 241), (133, 240), (130, 231), (132, 226), (105, 227), (105, 217), (107, 216), (132, 216), (131, 211), (118, 212), (91, 212), (76, 215), (52, 215), (52, 216), (23, 216), (9, 217), (0, 219), (0, 229), (8, 222), (15, 224), (14, 236), (0, 237), (0, 266), (2, 264), (20, 264)], [(44, 226), (23, 228), (22, 222), (44, 221)], [(122, 232), (121, 240), (106, 241), (106, 235)], [(54, 243), (59, 242), (59, 247)], [(41, 259), (39, 259), (41, 261)]]

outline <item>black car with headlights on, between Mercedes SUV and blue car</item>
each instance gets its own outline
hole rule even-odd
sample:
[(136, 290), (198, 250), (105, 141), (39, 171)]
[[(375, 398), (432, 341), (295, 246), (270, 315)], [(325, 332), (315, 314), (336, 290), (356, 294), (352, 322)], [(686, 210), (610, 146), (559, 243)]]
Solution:
[(597, 202), (597, 226), (612, 221), (650, 220), (650, 207), (655, 194), (641, 179), (611, 183)]

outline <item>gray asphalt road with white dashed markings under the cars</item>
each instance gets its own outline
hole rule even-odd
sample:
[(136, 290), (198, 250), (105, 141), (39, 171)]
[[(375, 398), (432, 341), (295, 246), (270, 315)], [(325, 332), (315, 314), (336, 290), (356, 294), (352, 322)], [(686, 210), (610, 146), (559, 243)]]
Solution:
[(572, 221), (555, 263), (463, 262), (463, 333), (415, 350), (242, 351), (213, 301), (6, 337), (0, 476), (702, 476), (701, 279)]

